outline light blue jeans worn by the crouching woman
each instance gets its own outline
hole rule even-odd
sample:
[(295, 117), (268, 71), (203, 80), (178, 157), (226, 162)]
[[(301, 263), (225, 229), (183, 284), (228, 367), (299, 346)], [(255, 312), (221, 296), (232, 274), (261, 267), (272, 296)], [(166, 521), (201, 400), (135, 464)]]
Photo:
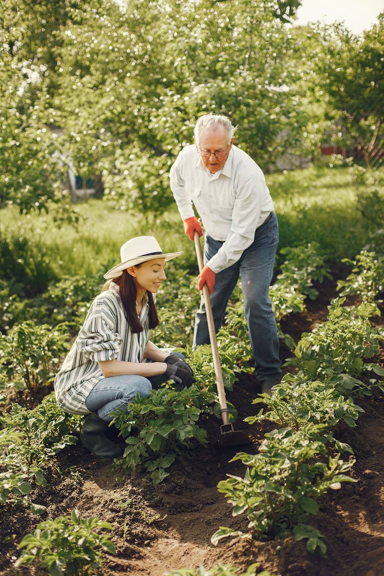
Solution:
[[(181, 353), (172, 352), (171, 354), (184, 360)], [(102, 378), (86, 397), (85, 406), (90, 412), (96, 412), (99, 418), (105, 422), (112, 422), (113, 417), (109, 416), (111, 412), (121, 408), (127, 413), (128, 403), (132, 402), (136, 394), (147, 398), (151, 389), (151, 378), (138, 376), (138, 374), (122, 374), (121, 376)]]

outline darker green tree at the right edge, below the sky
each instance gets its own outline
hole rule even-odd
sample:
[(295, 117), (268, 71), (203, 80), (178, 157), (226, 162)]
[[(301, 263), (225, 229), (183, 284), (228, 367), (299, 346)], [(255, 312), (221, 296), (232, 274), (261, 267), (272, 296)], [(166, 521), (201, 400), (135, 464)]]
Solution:
[(341, 25), (323, 31), (322, 39), (325, 58), (318, 72), (339, 122), (339, 142), (356, 146), (374, 168), (384, 145), (384, 12), (361, 39)]

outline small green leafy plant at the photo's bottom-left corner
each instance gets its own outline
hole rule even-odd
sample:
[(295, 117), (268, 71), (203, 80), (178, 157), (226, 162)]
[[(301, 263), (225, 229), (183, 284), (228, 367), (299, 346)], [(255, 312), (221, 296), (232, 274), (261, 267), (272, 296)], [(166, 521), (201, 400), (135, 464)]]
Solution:
[(101, 567), (102, 551), (116, 554), (115, 545), (108, 535), (98, 530), (112, 530), (109, 522), (97, 518), (83, 519), (78, 510), (71, 516), (59, 516), (40, 522), (33, 534), (24, 536), (18, 548), (25, 548), (15, 566), (47, 567), (52, 576), (60, 574), (90, 574)]

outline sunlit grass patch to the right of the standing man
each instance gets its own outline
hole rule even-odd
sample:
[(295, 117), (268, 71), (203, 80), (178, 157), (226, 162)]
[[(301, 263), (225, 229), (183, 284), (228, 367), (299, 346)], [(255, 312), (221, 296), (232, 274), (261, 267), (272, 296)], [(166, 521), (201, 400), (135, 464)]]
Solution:
[(279, 217), (279, 249), (318, 242), (337, 262), (366, 243), (369, 223), (359, 210), (352, 169), (311, 166), (268, 175), (267, 183)]

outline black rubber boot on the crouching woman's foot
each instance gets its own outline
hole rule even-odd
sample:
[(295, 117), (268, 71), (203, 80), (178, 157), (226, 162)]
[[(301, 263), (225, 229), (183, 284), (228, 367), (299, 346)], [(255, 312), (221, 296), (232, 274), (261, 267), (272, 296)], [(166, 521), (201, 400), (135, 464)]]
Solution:
[(108, 422), (100, 418), (96, 412), (85, 417), (80, 439), (94, 456), (99, 458), (117, 458), (121, 456), (121, 449), (115, 442), (111, 442), (104, 432), (108, 429)]

